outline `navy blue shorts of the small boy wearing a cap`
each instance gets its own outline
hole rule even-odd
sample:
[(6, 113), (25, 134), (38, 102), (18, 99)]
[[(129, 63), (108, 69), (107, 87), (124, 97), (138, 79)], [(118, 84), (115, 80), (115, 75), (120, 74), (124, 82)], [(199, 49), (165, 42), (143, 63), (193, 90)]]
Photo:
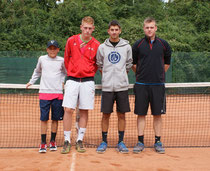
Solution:
[(64, 109), (62, 107), (63, 100), (53, 99), (53, 100), (40, 100), (40, 120), (48, 121), (49, 112), (51, 108), (51, 120), (58, 121), (63, 120)]

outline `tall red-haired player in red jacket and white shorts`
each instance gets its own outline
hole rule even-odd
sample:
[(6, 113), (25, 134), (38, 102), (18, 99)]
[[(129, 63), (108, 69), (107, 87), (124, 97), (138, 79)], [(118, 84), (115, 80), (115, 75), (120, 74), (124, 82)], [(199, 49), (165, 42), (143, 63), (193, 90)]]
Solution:
[(94, 108), (95, 83), (94, 76), (97, 71), (96, 53), (99, 42), (92, 37), (94, 31), (92, 17), (84, 17), (80, 25), (81, 34), (68, 38), (64, 63), (67, 70), (67, 81), (63, 100), (64, 112), (64, 146), (61, 153), (69, 153), (71, 148), (72, 114), (79, 107), (80, 120), (76, 149), (85, 152), (83, 137), (88, 121), (88, 110)]

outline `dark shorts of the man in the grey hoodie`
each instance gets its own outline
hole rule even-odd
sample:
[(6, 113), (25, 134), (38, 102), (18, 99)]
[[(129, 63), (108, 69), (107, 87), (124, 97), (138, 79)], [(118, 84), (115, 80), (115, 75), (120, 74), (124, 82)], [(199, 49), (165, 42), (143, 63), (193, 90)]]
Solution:
[(128, 91), (119, 92), (105, 92), (102, 91), (101, 97), (101, 112), (112, 113), (113, 105), (116, 101), (117, 112), (126, 113), (130, 112)]

